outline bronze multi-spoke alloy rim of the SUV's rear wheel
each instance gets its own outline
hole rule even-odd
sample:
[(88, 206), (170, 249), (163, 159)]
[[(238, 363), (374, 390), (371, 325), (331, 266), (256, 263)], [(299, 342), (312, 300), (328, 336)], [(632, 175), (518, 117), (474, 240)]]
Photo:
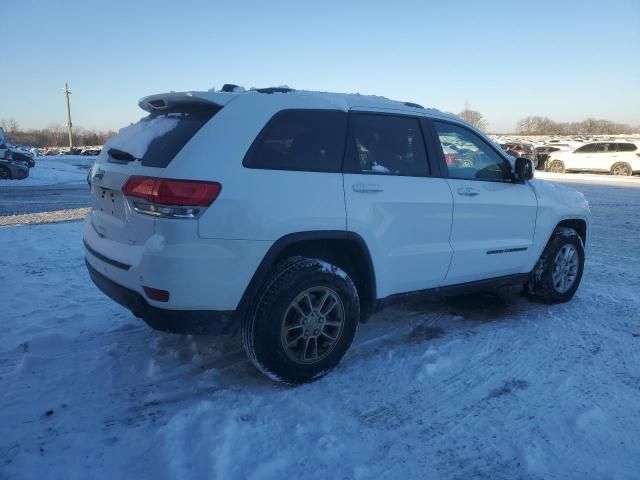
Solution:
[(287, 307), (280, 341), (289, 359), (299, 364), (317, 363), (335, 348), (344, 330), (345, 309), (337, 292), (311, 287)]

